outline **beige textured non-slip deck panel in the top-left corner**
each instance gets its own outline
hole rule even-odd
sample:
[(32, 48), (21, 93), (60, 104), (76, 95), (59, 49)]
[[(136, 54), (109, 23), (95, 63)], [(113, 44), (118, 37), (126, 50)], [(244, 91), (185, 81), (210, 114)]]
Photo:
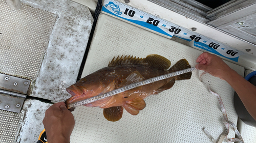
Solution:
[(49, 11), (25, 4), (13, 10), (0, 0), (0, 72), (35, 79), (55, 20)]

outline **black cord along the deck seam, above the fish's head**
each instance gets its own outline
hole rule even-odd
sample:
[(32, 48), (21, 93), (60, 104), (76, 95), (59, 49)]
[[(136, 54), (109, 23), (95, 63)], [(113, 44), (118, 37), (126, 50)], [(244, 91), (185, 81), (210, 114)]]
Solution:
[(95, 9), (95, 13), (94, 13), (94, 21), (93, 21), (92, 30), (91, 30), (90, 37), (89, 37), (89, 40), (88, 40), (88, 43), (87, 43), (86, 51), (84, 52), (84, 55), (83, 55), (82, 63), (81, 63), (76, 81), (81, 79), (82, 71), (83, 71), (83, 68), (84, 68), (84, 64), (86, 64), (86, 59), (87, 59), (88, 52), (89, 52), (89, 49), (90, 49), (90, 46), (91, 46), (91, 42), (92, 42), (92, 39), (93, 39), (93, 34), (94, 34), (94, 31), (95, 31), (95, 27), (96, 27), (96, 23), (97, 23), (99, 14), (101, 12), (101, 8), (102, 8), (102, 0), (98, 0), (97, 6), (96, 6), (96, 9)]

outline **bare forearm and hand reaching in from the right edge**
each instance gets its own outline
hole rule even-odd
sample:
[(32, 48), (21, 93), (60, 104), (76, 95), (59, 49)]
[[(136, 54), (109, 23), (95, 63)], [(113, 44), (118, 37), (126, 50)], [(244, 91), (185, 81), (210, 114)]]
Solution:
[(229, 68), (217, 55), (204, 52), (196, 62), (199, 63), (196, 65), (197, 69), (207, 71), (212, 76), (226, 80), (237, 92), (252, 118), (256, 120), (256, 87), (253, 84)]

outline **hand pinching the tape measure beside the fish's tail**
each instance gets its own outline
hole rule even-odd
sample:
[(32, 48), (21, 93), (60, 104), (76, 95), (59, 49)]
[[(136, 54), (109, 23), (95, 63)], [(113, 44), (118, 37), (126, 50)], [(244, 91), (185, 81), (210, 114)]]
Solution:
[(214, 54), (208, 52), (203, 52), (198, 56), (196, 60), (196, 68), (199, 70), (204, 70), (211, 74), (224, 80), (224, 78), (230, 73), (233, 72), (229, 66), (222, 61), (222, 59)]

